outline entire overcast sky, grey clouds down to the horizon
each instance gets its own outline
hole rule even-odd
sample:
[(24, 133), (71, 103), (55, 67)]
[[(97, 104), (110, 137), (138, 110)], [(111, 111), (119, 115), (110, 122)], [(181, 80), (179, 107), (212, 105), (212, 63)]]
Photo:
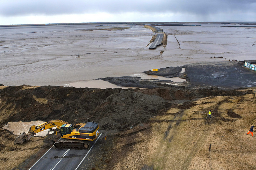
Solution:
[(0, 25), (256, 21), (256, 0), (0, 0)]

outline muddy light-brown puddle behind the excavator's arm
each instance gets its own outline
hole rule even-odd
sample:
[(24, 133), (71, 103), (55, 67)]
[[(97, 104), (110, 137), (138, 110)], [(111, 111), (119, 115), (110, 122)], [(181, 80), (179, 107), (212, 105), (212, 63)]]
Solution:
[[(23, 132), (25, 133), (28, 133), (30, 127), (32, 125), (41, 125), (45, 123), (44, 121), (31, 121), (31, 122), (22, 122), (22, 121), (19, 121), (19, 122), (8, 122), (4, 127), (2, 127), (2, 129), (7, 129), (7, 130), (10, 130), (13, 132), (13, 134), (15, 135), (19, 135)], [(56, 128), (52, 128), (52, 129), (56, 129)], [(37, 133), (35, 134), (34, 136), (46, 136), (48, 133), (49, 134), (52, 134), (53, 132), (49, 132), (50, 129), (47, 129), (47, 130), (44, 130), (44, 131), (41, 131), (40, 133)]]

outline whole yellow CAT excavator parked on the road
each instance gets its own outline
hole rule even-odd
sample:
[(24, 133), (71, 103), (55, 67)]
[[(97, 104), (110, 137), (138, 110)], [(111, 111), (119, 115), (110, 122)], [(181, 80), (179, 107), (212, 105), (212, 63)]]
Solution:
[(98, 123), (92, 122), (77, 123), (76, 125), (69, 124), (63, 120), (50, 120), (38, 126), (31, 126), (26, 134), (21, 133), (14, 141), (16, 143), (28, 142), (36, 133), (49, 128), (58, 128), (61, 138), (54, 143), (56, 148), (84, 148), (88, 149), (91, 146), (98, 134)]

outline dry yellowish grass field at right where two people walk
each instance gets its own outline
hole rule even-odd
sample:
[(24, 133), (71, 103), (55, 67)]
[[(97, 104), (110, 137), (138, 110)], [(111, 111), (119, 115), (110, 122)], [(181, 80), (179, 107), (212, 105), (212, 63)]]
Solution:
[[(255, 169), (256, 139), (246, 135), (255, 108), (254, 94), (207, 97), (187, 109), (172, 108), (132, 138), (136, 144), (113, 169)], [(201, 113), (209, 109), (212, 119)]]

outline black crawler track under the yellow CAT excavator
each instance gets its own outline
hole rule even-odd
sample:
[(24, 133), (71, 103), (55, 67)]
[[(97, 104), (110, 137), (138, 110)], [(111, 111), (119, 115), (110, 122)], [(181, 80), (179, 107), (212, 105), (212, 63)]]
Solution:
[(54, 143), (56, 148), (75, 148), (75, 149), (89, 149), (91, 143), (88, 141), (74, 140), (74, 139), (59, 139)]

